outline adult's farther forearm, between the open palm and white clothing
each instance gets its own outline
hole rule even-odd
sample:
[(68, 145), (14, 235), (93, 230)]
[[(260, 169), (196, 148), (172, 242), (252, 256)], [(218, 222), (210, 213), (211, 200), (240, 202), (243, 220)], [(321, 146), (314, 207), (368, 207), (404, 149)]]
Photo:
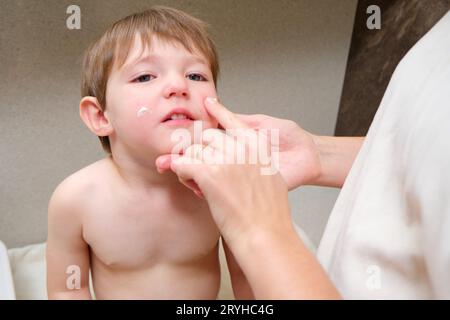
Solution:
[(314, 136), (321, 164), (321, 174), (314, 185), (342, 187), (364, 139), (364, 137)]

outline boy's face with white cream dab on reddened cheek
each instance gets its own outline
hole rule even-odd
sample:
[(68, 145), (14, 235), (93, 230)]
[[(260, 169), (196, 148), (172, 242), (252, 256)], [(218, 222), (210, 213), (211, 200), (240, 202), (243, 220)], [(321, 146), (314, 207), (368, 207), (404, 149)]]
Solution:
[(157, 37), (143, 52), (136, 36), (125, 63), (108, 79), (110, 140), (139, 154), (170, 153), (177, 144), (171, 141), (176, 129), (188, 129), (193, 138), (194, 120), (202, 121), (203, 129), (217, 127), (204, 108), (206, 97), (216, 97), (216, 88), (202, 54)]

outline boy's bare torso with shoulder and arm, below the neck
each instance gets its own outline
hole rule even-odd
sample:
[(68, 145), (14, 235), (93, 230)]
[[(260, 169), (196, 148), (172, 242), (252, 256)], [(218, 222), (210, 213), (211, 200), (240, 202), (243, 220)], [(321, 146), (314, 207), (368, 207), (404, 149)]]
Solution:
[[(219, 232), (206, 202), (171, 180), (131, 190), (107, 158), (63, 181), (49, 210), (49, 298), (91, 298), (91, 267), (98, 299), (215, 299)], [(66, 287), (69, 265), (79, 290)]]

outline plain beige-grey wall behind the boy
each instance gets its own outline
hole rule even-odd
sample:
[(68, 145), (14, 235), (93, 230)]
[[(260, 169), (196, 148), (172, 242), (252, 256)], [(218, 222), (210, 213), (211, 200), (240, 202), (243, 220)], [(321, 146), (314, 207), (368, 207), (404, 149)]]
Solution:
[[(81, 8), (81, 30), (66, 28), (71, 4)], [(0, 240), (9, 248), (45, 241), (54, 188), (103, 157), (78, 115), (84, 49), (110, 23), (152, 4), (211, 25), (219, 96), (230, 109), (333, 134), (356, 0), (2, 0)], [(338, 192), (303, 187), (290, 194), (295, 221), (316, 245)]]

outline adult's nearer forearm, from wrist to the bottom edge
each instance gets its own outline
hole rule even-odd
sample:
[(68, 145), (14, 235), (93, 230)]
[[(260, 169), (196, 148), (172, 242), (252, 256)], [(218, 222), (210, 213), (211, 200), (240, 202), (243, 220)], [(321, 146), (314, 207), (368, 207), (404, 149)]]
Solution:
[(237, 248), (256, 299), (339, 299), (314, 255), (292, 234), (260, 235)]

